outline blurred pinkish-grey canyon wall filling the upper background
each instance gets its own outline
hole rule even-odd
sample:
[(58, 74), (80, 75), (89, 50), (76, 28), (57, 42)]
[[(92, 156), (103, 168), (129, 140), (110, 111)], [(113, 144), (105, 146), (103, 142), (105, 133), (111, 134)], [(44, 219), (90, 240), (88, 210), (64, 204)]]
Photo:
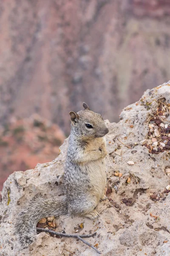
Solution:
[(38, 113), (67, 136), (83, 101), (118, 121), (169, 79), (168, 0), (0, 1), (2, 126)]

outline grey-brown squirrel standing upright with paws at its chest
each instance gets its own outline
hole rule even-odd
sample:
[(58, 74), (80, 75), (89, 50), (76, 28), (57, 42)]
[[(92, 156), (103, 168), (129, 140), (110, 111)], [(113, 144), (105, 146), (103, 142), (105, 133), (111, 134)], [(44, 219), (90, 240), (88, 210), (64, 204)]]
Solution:
[(48, 216), (99, 217), (96, 206), (105, 200), (107, 155), (104, 136), (108, 133), (99, 113), (90, 110), (71, 111), (71, 132), (64, 167), (66, 198), (63, 200), (36, 197), (17, 214), (14, 230), (20, 249), (36, 240), (37, 222)]

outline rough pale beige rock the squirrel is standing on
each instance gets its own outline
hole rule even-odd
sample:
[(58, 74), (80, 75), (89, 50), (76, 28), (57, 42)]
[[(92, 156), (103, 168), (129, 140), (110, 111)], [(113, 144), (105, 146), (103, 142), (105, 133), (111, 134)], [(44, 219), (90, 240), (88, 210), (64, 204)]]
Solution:
[[(73, 233), (74, 227), (83, 223), (80, 233), (96, 231), (96, 237), (87, 240), (98, 244), (103, 256), (169, 256), (170, 193), (165, 188), (170, 184), (170, 176), (166, 175), (165, 169), (170, 168), (170, 154), (149, 154), (140, 144), (147, 137), (149, 119), (156, 111), (157, 101), (162, 98), (170, 103), (170, 81), (147, 90), (139, 102), (125, 108), (119, 123), (105, 121), (109, 128), (106, 136), (108, 199), (99, 203), (100, 217), (97, 220), (60, 217), (56, 220), (58, 231)], [(4, 183), (0, 203), (1, 256), (97, 255), (81, 241), (45, 233), (37, 235), (34, 245), (16, 253), (17, 241), (13, 232), (16, 212), (35, 195), (64, 196), (62, 174), (67, 144), (68, 139), (53, 162), (37, 164), (35, 169), (26, 172), (14, 172)], [(119, 149), (121, 155), (115, 154)], [(128, 161), (133, 161), (134, 165), (128, 165)], [(122, 177), (114, 176), (117, 170)], [(126, 182), (128, 177), (130, 183)]]

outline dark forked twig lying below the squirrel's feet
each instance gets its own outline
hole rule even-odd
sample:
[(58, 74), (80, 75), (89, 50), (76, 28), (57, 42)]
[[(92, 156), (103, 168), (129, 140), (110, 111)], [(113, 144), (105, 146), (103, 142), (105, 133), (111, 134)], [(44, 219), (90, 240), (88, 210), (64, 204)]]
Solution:
[(48, 230), (45, 228), (39, 228), (37, 227), (37, 231), (41, 231), (41, 232), (47, 232), (56, 236), (65, 236), (65, 237), (74, 237), (79, 239), (80, 241), (82, 241), (83, 243), (87, 244), (88, 246), (90, 246), (92, 249), (94, 249), (97, 253), (101, 254), (101, 252), (99, 250), (97, 250), (96, 247), (94, 247), (93, 245), (91, 245), (89, 242), (85, 241), (84, 239), (82, 239), (82, 237), (94, 237), (96, 236), (96, 233), (92, 234), (92, 235), (76, 235), (76, 234), (64, 234), (64, 233), (59, 233), (59, 232), (55, 232), (53, 230)]

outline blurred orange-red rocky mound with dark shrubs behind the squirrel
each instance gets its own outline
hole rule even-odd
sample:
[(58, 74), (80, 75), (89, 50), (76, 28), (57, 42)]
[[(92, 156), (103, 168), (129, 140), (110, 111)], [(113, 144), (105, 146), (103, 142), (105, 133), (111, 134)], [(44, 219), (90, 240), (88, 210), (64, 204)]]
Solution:
[(14, 171), (33, 169), (37, 163), (55, 159), (64, 139), (58, 125), (37, 114), (25, 119), (12, 118), (0, 130), (0, 191)]

